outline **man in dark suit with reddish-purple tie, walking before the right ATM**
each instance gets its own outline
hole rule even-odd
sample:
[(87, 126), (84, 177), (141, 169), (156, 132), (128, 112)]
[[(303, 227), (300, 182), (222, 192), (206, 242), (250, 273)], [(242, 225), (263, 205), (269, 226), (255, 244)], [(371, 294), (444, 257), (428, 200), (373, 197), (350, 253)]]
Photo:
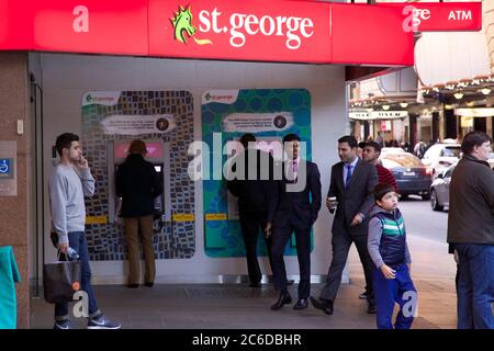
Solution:
[(278, 301), (271, 306), (272, 310), (292, 302), (287, 290), (283, 252), (293, 231), (300, 268), (299, 301), (293, 308), (307, 307), (311, 292), (311, 228), (321, 210), (321, 176), (317, 165), (300, 158), (297, 135), (287, 135), (283, 145), (289, 158), (282, 163), (282, 180), (278, 182), (276, 193), (276, 211), (269, 211), (266, 228), (269, 233), (272, 227), (272, 270), (274, 286), (280, 292)]

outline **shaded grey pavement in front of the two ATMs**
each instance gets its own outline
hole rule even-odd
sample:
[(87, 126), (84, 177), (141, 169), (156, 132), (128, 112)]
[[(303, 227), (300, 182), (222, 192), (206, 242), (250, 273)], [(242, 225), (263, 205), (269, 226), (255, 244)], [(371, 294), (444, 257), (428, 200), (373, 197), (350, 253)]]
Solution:
[[(318, 294), (321, 284), (314, 286)], [(310, 306), (295, 312), (292, 305), (279, 312), (270, 310), (278, 297), (272, 285), (251, 288), (235, 284), (155, 285), (153, 288), (130, 290), (124, 286), (99, 285), (96, 293), (104, 313), (122, 324), (122, 328), (375, 328), (374, 315), (366, 313), (366, 303), (358, 299), (360, 282), (341, 286), (335, 314), (326, 316)], [(296, 286), (290, 287), (296, 297)], [(53, 306), (43, 299), (33, 299), (32, 328), (52, 328)], [(74, 319), (77, 328), (85, 321)], [(417, 318), (415, 328), (438, 328), (424, 318)]]

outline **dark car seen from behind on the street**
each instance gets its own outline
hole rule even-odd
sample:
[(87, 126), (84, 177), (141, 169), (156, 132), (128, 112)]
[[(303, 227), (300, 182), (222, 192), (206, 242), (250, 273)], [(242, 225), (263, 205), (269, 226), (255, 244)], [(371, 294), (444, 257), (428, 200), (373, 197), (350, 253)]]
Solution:
[(429, 188), (433, 182), (431, 169), (424, 166), (420, 159), (403, 150), (393, 150), (381, 154), (383, 167), (388, 168), (396, 179), (396, 184), (402, 197), (411, 194), (422, 195), (423, 200), (429, 200)]

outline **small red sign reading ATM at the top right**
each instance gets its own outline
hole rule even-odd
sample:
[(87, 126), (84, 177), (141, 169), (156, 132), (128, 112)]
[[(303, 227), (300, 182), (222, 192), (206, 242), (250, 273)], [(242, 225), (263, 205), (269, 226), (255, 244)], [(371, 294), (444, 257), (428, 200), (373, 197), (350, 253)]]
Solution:
[(415, 32), (480, 31), (482, 2), (386, 3), (402, 8), (405, 30)]

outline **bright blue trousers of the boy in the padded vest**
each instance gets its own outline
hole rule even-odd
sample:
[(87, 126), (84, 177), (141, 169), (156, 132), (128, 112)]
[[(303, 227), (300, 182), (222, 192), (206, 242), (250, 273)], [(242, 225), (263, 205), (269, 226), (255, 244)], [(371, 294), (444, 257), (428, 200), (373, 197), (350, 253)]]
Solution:
[(391, 267), (396, 271), (395, 279), (385, 279), (381, 270), (374, 268), (372, 286), (375, 295), (378, 329), (393, 329), (392, 317), (394, 305), (400, 305), (394, 327), (409, 329), (414, 321), (417, 303), (417, 291), (409, 276), (406, 264)]

